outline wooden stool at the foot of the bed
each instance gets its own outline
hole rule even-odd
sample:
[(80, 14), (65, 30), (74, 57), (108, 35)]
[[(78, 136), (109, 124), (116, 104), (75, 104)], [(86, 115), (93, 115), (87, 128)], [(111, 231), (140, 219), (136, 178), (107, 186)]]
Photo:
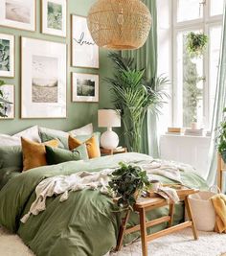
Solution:
[[(160, 198), (158, 196), (154, 196), (153, 198), (139, 198), (137, 202), (134, 204), (134, 211), (138, 212), (140, 216), (140, 224), (127, 228), (126, 229), (126, 224), (127, 221), (129, 220), (129, 215), (130, 215), (130, 210), (126, 212), (125, 218), (122, 221), (122, 225), (120, 228), (120, 233), (119, 233), (119, 238), (116, 246), (116, 250), (120, 250), (123, 241), (124, 241), (124, 235), (125, 234), (130, 234), (135, 231), (141, 231), (141, 240), (142, 240), (142, 251), (143, 251), (143, 256), (147, 256), (147, 242), (150, 242), (154, 239), (166, 236), (171, 234), (172, 232), (187, 228), (187, 227), (192, 227), (192, 233), (193, 233), (193, 238), (194, 240), (198, 239), (197, 236), (197, 231), (195, 228), (195, 224), (192, 219), (192, 210), (189, 202), (189, 195), (192, 195), (194, 193), (197, 193), (199, 190), (196, 189), (181, 189), (177, 190), (177, 195), (180, 198), (180, 200), (185, 201), (185, 208), (187, 209), (188, 212), (188, 217), (189, 221), (184, 221), (183, 223), (171, 226), (172, 221), (173, 221), (173, 214), (174, 214), (174, 203), (173, 202), (168, 202), (167, 199), (165, 198)], [(155, 208), (163, 207), (169, 205), (169, 215), (164, 216), (161, 218), (158, 218), (153, 221), (146, 221), (146, 213), (147, 211), (150, 211)], [(147, 235), (147, 227), (151, 227), (163, 222), (168, 222), (168, 228), (158, 231), (154, 234)]]

